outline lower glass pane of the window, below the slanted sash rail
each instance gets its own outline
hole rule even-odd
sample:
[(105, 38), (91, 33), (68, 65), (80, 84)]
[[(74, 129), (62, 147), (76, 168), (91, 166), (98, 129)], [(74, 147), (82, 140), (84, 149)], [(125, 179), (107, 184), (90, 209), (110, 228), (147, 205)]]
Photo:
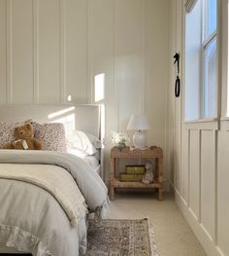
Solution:
[(216, 37), (204, 51), (204, 117), (211, 118), (216, 116)]

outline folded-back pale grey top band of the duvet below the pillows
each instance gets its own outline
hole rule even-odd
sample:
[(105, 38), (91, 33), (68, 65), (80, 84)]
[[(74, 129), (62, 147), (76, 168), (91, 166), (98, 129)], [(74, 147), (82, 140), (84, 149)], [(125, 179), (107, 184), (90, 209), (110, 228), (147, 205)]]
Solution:
[(65, 168), (76, 180), (89, 212), (97, 212), (102, 218), (108, 215), (109, 199), (106, 185), (98, 173), (77, 156), (33, 150), (1, 150), (0, 153), (0, 164), (58, 165)]

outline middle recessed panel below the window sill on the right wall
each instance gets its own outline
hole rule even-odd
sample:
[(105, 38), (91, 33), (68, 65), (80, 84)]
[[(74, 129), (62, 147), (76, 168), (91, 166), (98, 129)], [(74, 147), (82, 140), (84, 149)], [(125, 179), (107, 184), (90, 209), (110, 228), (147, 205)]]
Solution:
[(201, 223), (214, 238), (215, 139), (213, 130), (201, 132)]

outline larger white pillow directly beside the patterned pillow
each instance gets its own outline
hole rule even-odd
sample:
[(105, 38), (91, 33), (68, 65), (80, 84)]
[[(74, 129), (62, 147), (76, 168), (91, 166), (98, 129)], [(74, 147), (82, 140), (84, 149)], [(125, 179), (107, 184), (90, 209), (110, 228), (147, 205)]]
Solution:
[(81, 130), (72, 130), (72, 132), (68, 134), (67, 140), (70, 150), (78, 149), (88, 156), (92, 156), (97, 152), (88, 136)]

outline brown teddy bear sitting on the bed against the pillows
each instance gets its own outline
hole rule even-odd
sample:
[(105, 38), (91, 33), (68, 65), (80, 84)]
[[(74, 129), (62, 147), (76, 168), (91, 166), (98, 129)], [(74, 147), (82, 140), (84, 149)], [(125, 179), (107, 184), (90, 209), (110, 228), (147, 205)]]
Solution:
[(16, 141), (3, 145), (2, 149), (20, 150), (42, 150), (43, 145), (40, 140), (34, 138), (33, 127), (30, 123), (25, 123), (15, 128)]

